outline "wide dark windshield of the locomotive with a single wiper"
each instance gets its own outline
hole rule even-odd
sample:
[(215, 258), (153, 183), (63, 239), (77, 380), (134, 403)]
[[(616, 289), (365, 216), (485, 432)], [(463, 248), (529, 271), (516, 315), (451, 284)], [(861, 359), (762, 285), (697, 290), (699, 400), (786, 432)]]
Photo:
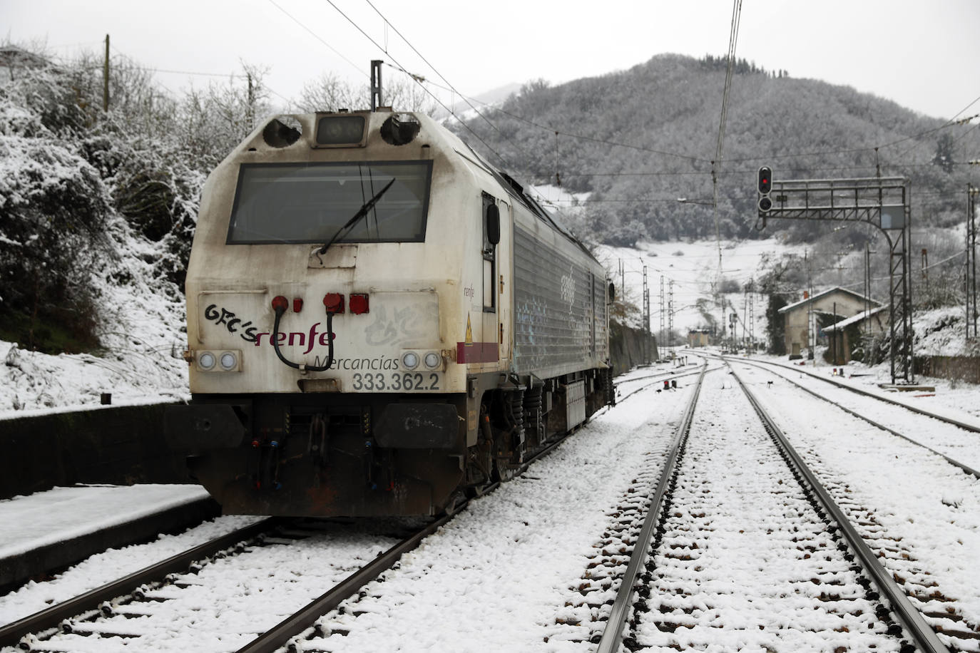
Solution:
[(392, 179), (338, 242), (421, 242), (431, 177), (429, 161), (242, 163), (227, 243), (325, 243)]

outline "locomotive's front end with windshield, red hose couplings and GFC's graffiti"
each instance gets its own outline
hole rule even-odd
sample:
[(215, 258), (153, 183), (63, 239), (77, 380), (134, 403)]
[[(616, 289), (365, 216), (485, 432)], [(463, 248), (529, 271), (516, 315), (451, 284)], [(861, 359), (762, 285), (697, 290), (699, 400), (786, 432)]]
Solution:
[(272, 119), (209, 177), (165, 431), (224, 512), (428, 515), (460, 486), (463, 261), (435, 217), (459, 211), (427, 120)]

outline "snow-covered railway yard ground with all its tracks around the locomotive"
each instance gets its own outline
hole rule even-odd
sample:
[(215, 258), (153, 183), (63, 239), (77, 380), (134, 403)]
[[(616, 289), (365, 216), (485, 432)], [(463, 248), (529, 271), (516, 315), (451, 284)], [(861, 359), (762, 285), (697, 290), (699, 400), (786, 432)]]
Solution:
[(10, 583), (0, 650), (980, 651), (980, 418), (718, 354), (616, 398), (449, 515), (223, 516)]

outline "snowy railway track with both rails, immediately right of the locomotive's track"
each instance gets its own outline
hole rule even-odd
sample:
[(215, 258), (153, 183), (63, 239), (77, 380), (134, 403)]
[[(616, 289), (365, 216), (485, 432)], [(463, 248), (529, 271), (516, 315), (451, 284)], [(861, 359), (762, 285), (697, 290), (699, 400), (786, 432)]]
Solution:
[[(881, 566), (881, 551), (732, 378), (709, 377), (677, 429), (657, 490), (624, 504), (614, 519), (625, 535), (583, 578), (577, 605), (588, 610), (578, 615), (596, 622), (598, 651), (948, 650), (919, 610), (939, 609), (936, 597), (928, 606), (909, 601), (915, 588)], [(961, 641), (953, 650), (975, 650)]]

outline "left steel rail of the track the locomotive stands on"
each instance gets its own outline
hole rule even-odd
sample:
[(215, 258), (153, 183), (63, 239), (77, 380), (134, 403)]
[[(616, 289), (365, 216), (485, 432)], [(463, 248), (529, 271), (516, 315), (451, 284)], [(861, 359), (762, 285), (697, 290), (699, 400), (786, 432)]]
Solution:
[(35, 612), (32, 615), (0, 628), (0, 646), (16, 646), (25, 634), (56, 628), (63, 620), (69, 619), (87, 610), (94, 610), (104, 601), (132, 592), (143, 583), (159, 581), (168, 574), (185, 571), (196, 560), (207, 558), (222, 549), (234, 546), (243, 539), (251, 539), (277, 526), (281, 520), (270, 517), (251, 526), (238, 529), (227, 535), (211, 541), (198, 544), (186, 551), (176, 553), (171, 557), (149, 567), (133, 572), (128, 576), (106, 583), (67, 601), (53, 605), (50, 608)]

